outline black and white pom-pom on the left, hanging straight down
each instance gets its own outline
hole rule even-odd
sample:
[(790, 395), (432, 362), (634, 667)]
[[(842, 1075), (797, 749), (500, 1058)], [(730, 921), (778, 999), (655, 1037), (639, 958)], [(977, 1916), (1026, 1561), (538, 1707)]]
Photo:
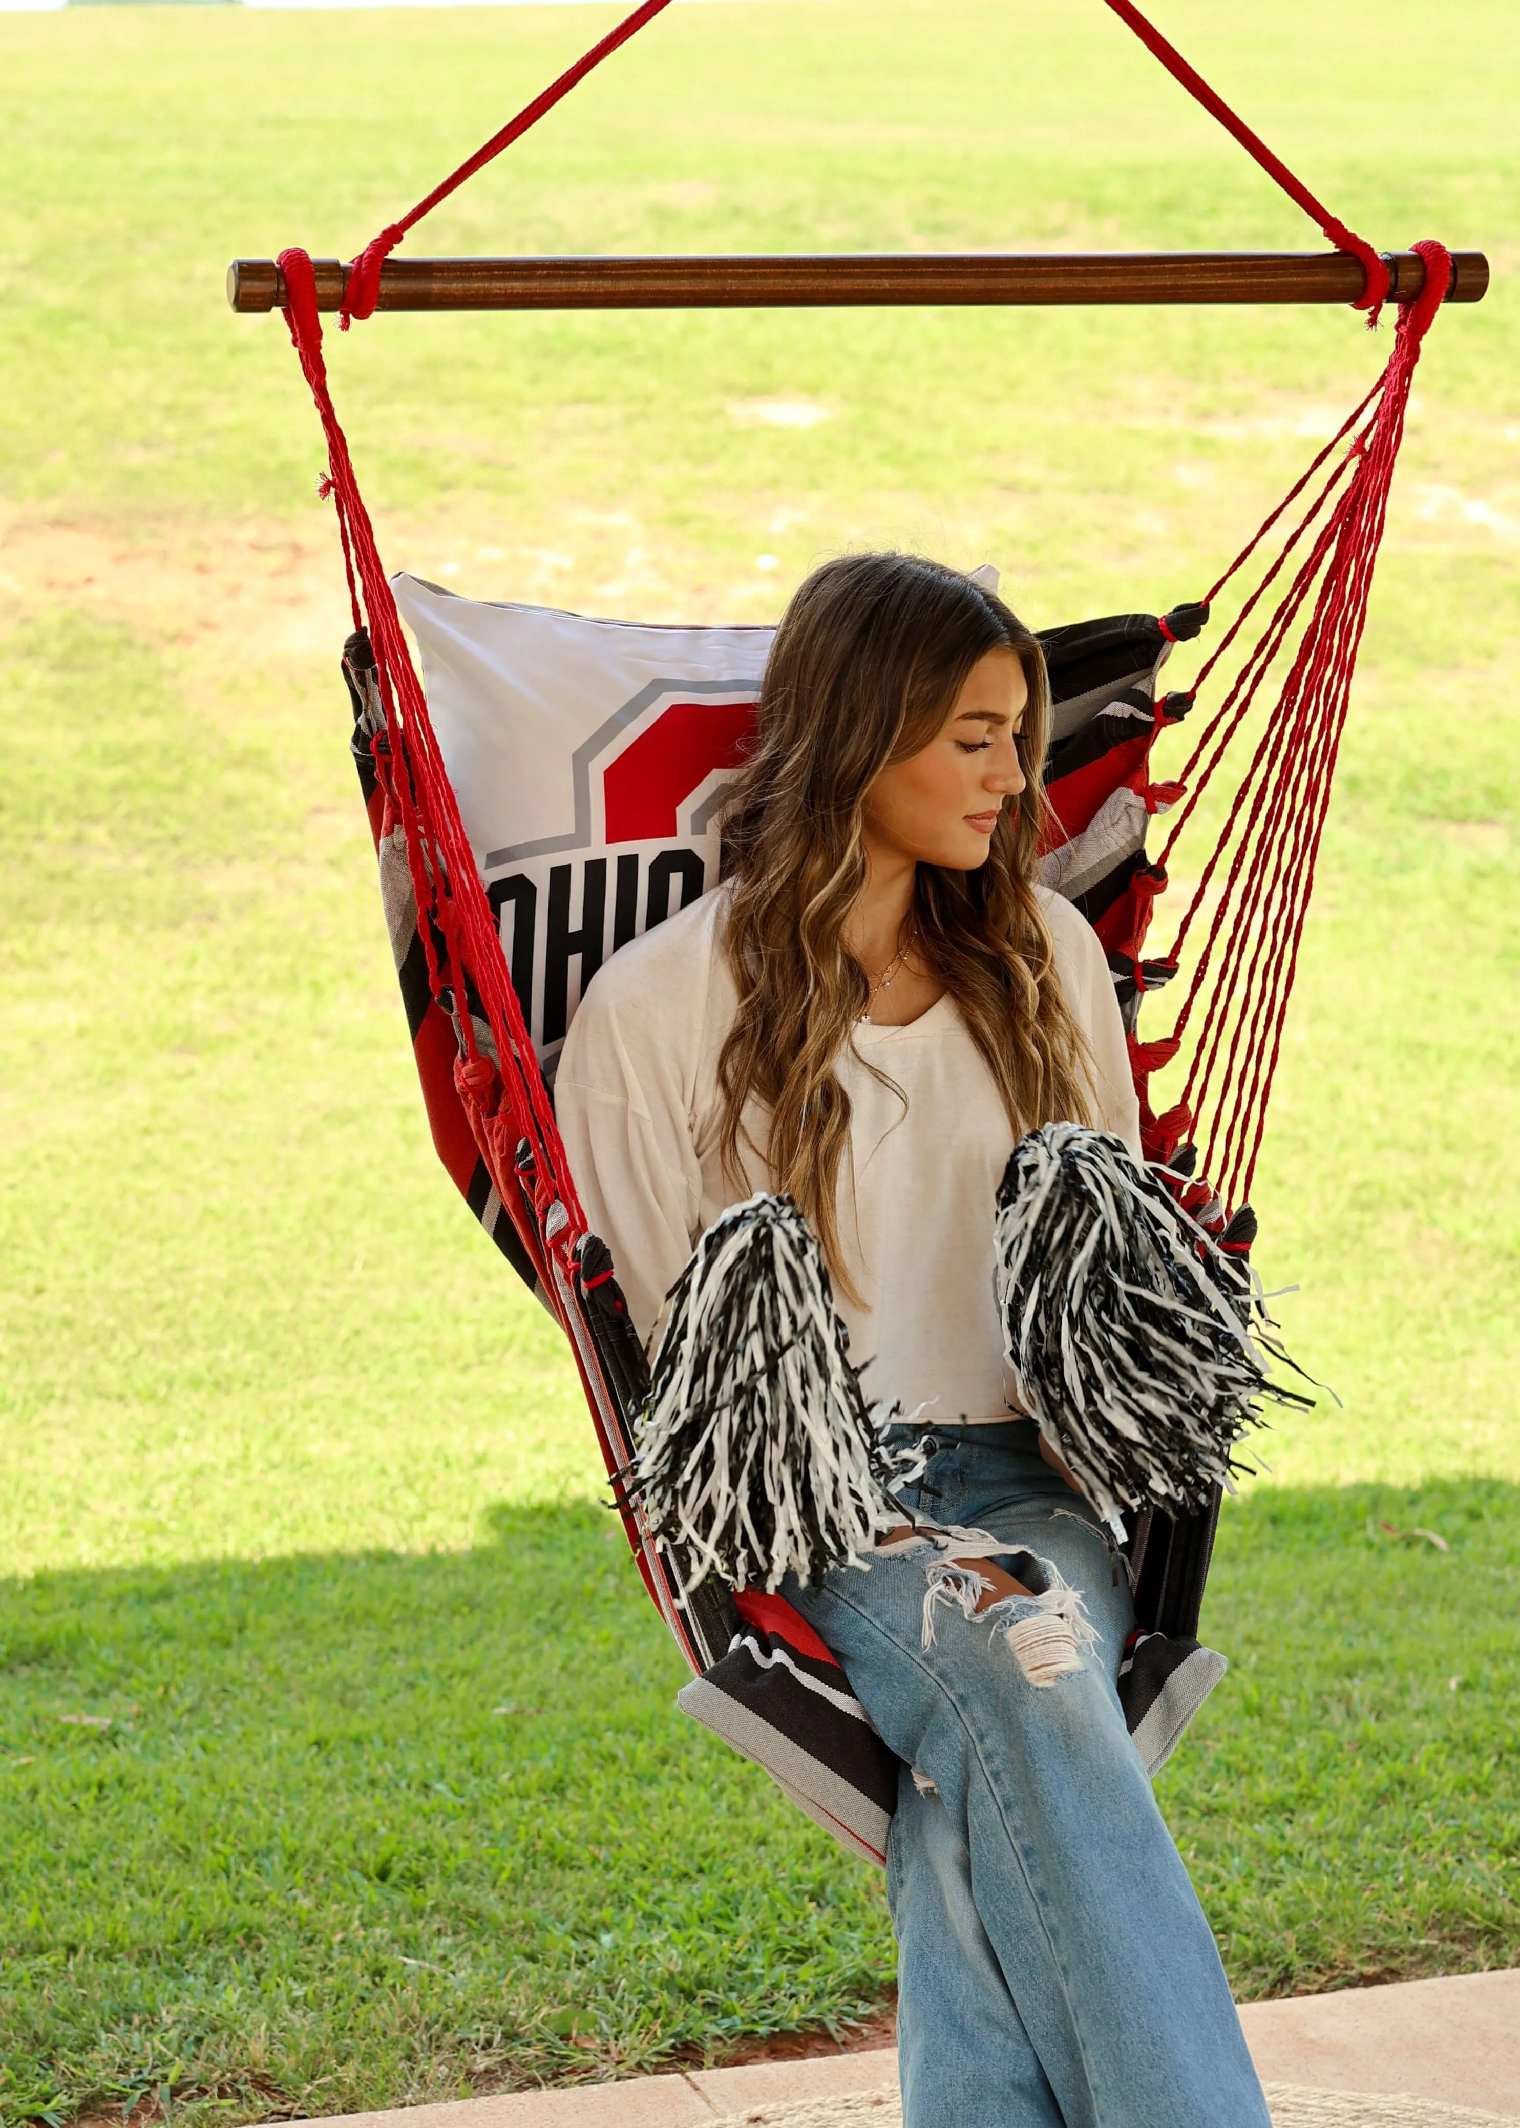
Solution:
[(666, 1300), (630, 1470), (685, 1590), (820, 1581), (905, 1515), (817, 1238), (788, 1196), (707, 1228)]

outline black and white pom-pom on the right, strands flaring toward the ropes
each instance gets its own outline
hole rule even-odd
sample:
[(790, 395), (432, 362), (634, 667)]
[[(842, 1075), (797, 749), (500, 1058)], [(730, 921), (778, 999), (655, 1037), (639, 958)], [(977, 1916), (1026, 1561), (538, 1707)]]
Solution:
[(1252, 1341), (1252, 1273), (1122, 1138), (1045, 1124), (996, 1198), (996, 1298), (1018, 1396), (1122, 1534), (1145, 1504), (1182, 1513), (1228, 1485), (1233, 1451), (1277, 1387)]

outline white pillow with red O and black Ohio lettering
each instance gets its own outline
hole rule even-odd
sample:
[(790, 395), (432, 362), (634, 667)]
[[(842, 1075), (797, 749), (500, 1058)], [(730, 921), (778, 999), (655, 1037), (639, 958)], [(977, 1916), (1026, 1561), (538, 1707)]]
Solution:
[(545, 1077), (619, 945), (717, 885), (773, 628), (645, 628), (394, 577)]

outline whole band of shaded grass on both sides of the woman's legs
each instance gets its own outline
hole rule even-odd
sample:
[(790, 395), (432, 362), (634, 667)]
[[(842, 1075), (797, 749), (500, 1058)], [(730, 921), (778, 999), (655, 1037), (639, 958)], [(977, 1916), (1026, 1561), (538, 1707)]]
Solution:
[[(1160, 1796), (1239, 1994), (1520, 1956), (1516, 1594), (1514, 1485), (1230, 1507), (1233, 1670)], [(4, 2111), (347, 2111), (866, 2013), (877, 1877), (679, 1681), (583, 1504), (0, 1585)]]

